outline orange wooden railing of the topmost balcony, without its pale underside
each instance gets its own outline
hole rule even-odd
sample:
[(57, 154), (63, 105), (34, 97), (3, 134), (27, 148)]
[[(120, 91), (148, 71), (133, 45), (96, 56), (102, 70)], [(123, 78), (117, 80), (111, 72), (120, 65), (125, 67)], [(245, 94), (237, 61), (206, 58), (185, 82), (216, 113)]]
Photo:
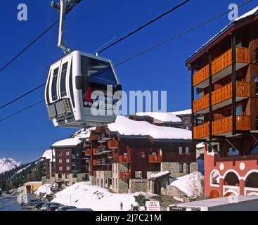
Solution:
[[(236, 47), (236, 62), (237, 63), (250, 63), (250, 49), (243, 47)], [(212, 61), (212, 75), (224, 70), (232, 64), (232, 49), (226, 51), (223, 55), (219, 56)], [(199, 70), (193, 75), (193, 86), (200, 84), (209, 78), (209, 65)]]

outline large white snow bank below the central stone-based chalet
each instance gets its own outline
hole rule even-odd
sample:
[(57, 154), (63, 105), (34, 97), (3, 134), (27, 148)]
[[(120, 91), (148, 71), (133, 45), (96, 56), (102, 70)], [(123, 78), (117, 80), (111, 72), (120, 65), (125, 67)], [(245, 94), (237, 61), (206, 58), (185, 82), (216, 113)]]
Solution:
[(91, 208), (94, 211), (120, 211), (120, 203), (123, 203), (123, 210), (129, 211), (131, 204), (136, 204), (134, 195), (110, 193), (105, 188), (81, 182), (56, 193), (56, 198), (52, 201), (79, 208)]

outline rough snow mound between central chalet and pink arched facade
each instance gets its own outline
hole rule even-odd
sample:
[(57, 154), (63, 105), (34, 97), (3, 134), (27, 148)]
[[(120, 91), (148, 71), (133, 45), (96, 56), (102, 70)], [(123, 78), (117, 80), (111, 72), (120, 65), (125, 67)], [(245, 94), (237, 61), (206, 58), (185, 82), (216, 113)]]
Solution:
[(195, 199), (203, 193), (202, 180), (204, 179), (205, 177), (200, 172), (194, 172), (175, 179), (170, 186), (175, 186), (179, 191), (186, 194), (188, 198)]

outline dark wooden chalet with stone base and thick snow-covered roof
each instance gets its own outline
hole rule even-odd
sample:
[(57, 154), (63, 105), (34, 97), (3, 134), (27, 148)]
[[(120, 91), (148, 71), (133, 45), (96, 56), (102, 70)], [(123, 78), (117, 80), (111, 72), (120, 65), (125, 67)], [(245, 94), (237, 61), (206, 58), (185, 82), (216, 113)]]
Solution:
[(151, 124), (150, 117), (148, 122), (131, 119), (120, 116), (114, 124), (91, 131), (91, 147), (84, 149), (91, 184), (116, 193), (167, 194), (169, 174), (179, 177), (197, 170), (191, 131)]

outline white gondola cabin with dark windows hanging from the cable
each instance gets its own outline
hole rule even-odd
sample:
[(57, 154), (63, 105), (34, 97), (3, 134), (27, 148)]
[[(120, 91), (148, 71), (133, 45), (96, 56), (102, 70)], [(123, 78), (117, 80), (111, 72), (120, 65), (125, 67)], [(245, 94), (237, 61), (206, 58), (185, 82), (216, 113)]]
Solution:
[[(56, 127), (96, 127), (115, 122), (112, 109), (118, 100), (112, 96), (121, 91), (110, 60), (73, 51), (49, 70), (45, 89), (49, 120)], [(105, 110), (105, 114), (93, 114), (92, 107)]]

